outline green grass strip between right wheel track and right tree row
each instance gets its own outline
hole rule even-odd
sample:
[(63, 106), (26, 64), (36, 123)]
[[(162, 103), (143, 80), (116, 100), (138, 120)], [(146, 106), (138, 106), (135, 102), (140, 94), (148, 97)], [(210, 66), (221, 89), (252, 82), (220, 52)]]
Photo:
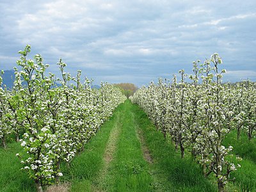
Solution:
[(216, 191), (217, 187), (202, 175), (190, 154), (181, 159), (172, 143), (156, 131), (146, 113), (136, 104), (131, 109), (153, 159), (150, 172), (154, 177), (154, 191)]

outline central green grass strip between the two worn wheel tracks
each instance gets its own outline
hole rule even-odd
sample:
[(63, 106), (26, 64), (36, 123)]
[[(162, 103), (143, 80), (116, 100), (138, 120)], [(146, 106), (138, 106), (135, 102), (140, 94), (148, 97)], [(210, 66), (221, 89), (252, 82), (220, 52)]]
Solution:
[(104, 191), (153, 191), (153, 179), (147, 161), (143, 158), (141, 145), (136, 136), (130, 100), (125, 101), (120, 136), (114, 159), (110, 163), (102, 186)]

